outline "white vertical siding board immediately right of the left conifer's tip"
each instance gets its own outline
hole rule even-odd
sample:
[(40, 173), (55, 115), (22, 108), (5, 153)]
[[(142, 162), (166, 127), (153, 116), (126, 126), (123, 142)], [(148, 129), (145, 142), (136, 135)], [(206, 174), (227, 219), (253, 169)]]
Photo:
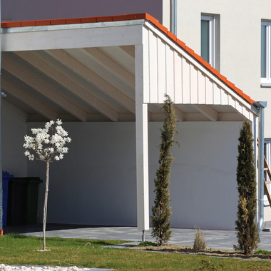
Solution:
[(174, 51), (174, 92), (175, 103), (183, 103), (182, 56), (177, 51)]

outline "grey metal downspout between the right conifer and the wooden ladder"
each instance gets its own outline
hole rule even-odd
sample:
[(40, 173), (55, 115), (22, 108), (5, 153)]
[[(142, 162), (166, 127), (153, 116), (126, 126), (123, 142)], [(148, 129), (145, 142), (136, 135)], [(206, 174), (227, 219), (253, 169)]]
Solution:
[(263, 226), (263, 218), (264, 218), (264, 155), (265, 155), (265, 107), (267, 107), (267, 102), (256, 102), (253, 103), (254, 106), (259, 108), (259, 130), (258, 130), (258, 138), (259, 138), (259, 158), (258, 158), (258, 169), (259, 169), (259, 178), (258, 183), (260, 186), (259, 189), (259, 220), (258, 220), (258, 231), (262, 231)]

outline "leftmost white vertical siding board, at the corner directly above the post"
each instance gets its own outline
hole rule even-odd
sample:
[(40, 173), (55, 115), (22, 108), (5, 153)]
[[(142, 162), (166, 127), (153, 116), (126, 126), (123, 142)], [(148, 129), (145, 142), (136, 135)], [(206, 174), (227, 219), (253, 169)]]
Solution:
[[(148, 29), (143, 28), (143, 103), (150, 102), (150, 73), (149, 73), (149, 38)], [(137, 59), (136, 59), (137, 61)]]

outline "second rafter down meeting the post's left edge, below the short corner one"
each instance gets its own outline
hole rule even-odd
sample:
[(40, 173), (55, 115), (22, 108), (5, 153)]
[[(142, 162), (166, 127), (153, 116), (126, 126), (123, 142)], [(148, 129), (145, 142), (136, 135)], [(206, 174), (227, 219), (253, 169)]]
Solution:
[(126, 69), (121, 65), (113, 61), (112, 58), (106, 56), (106, 54), (100, 51), (98, 48), (80, 48), (79, 50), (92, 58), (103, 68), (106, 68), (106, 70), (110, 71), (114, 76), (119, 78), (128, 86), (133, 89), (135, 88), (135, 76), (126, 71)]

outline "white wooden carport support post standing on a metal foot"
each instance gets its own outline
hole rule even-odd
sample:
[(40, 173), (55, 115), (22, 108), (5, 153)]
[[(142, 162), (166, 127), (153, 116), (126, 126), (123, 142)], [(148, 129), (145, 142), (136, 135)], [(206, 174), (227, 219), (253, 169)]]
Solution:
[[(148, 195), (148, 104), (143, 103), (146, 88), (143, 45), (136, 45), (136, 181), (138, 230), (149, 230)], [(145, 78), (145, 76), (147, 78)], [(144, 238), (144, 233), (143, 233)]]

